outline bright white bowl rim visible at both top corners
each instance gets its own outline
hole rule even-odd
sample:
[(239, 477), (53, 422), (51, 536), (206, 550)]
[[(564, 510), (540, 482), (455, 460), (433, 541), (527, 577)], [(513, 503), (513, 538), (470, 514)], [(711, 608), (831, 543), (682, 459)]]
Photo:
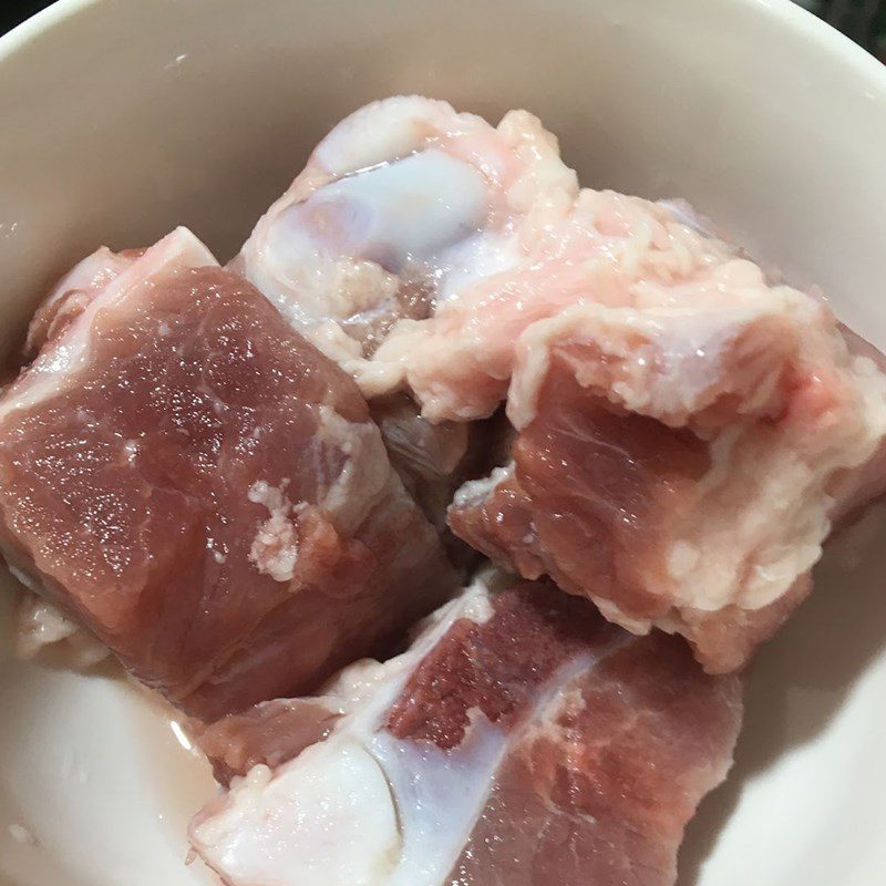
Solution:
[[(51, 6), (0, 37), (0, 64), (9, 61), (41, 33), (62, 24), (89, 7), (109, 2), (111, 0), (55, 0)], [(720, 3), (724, 10), (728, 8), (756, 10), (760, 16), (765, 16), (770, 27), (803, 35), (821, 51), (834, 59), (838, 58), (856, 76), (864, 79), (868, 89), (876, 90), (886, 97), (886, 64), (794, 0), (709, 0), (709, 2)]]

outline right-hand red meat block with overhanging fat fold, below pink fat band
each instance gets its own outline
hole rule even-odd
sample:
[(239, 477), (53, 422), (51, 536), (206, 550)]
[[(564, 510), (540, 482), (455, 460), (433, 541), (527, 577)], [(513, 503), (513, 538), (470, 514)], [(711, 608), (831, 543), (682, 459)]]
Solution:
[(539, 322), (511, 381), (514, 461), (456, 495), (455, 534), (631, 630), (684, 635), (711, 671), (741, 667), (886, 480), (883, 374), (789, 295), (762, 318), (580, 306)]

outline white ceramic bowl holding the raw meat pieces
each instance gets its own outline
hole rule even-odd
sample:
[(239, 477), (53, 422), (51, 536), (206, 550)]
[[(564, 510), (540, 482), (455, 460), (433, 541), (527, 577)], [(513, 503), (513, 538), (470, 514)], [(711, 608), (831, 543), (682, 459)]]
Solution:
[[(99, 244), (185, 224), (226, 259), (399, 92), (536, 112), (585, 184), (688, 197), (886, 347), (886, 69), (787, 0), (63, 0), (0, 40), (0, 351)], [(759, 655), (681, 886), (884, 883), (884, 539), (876, 514), (841, 539)], [(204, 882), (183, 827), (212, 791), (122, 681), (0, 641), (0, 884)]]

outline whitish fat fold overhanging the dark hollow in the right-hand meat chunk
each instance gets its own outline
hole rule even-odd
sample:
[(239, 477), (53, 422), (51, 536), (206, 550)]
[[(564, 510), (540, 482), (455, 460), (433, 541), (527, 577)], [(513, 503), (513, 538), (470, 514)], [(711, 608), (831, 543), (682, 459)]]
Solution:
[(508, 419), (517, 430), (532, 422), (552, 352), (569, 344), (594, 351), (593, 359), (576, 361), (579, 382), (638, 415), (679, 427), (725, 394), (735, 399), (739, 416), (775, 414), (792, 356), (783, 342), (793, 333), (787, 318), (802, 324), (799, 315), (807, 307), (805, 299), (787, 297), (720, 309), (566, 308), (518, 339)]

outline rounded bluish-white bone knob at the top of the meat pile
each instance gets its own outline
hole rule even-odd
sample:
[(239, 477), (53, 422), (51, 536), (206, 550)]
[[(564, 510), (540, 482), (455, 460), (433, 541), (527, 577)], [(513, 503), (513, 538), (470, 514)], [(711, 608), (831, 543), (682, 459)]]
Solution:
[(233, 267), (357, 371), (394, 321), (511, 266), (575, 193), (532, 115), (494, 128), (445, 102), (387, 99), (320, 142)]

